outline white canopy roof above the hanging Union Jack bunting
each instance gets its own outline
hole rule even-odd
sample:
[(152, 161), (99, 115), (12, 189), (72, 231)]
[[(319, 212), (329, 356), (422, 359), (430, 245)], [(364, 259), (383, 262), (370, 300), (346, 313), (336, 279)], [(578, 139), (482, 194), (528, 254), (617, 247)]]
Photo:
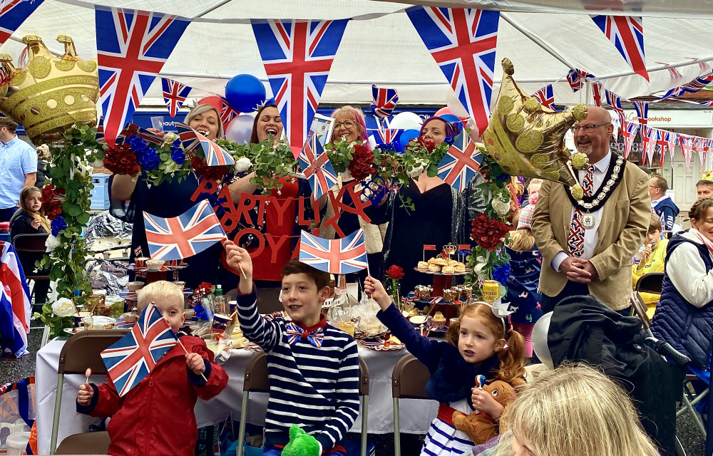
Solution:
[[(163, 67), (162, 76), (195, 88), (191, 97), (224, 93), (227, 79), (250, 73), (266, 81), (250, 19), (342, 19), (347, 26), (329, 73), (322, 103), (369, 103), (371, 84), (399, 90), (399, 103), (443, 105), (450, 90), (446, 78), (411, 25), (404, 9), (416, 2), (374, 0), (45, 0), (0, 52), (17, 58), (21, 38), (39, 35), (51, 50), (59, 34), (74, 38), (83, 58), (96, 57), (94, 4), (176, 14), (193, 19)], [(532, 93), (555, 83), (556, 103), (585, 101), (564, 77), (570, 68), (597, 76), (602, 86), (624, 98), (649, 95), (699, 76), (697, 62), (713, 66), (713, 0), (637, 2), (644, 16), (645, 56), (650, 82), (634, 74), (590, 14), (631, 11), (627, 0), (430, 0), (432, 6), (480, 7), (501, 11), (496, 56), (515, 64), (515, 79)], [(610, 9), (617, 9), (611, 11)], [(676, 66), (674, 80), (666, 66)], [(494, 90), (498, 90), (496, 87)], [(495, 92), (497, 93), (497, 92)], [(161, 105), (160, 81), (143, 105)]]

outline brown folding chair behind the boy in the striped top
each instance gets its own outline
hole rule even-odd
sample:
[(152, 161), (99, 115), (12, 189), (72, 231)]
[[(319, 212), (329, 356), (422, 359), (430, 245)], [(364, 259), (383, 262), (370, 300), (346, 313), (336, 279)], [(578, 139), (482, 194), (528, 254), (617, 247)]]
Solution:
[[(243, 456), (243, 441), (247, 425), (247, 405), (250, 392), (270, 393), (270, 383), (267, 377), (267, 355), (264, 351), (257, 353), (247, 363), (245, 368), (245, 383), (242, 385), (242, 407), (240, 408), (240, 426), (237, 432), (237, 456)], [(369, 369), (361, 356), (359, 357), (359, 405), (361, 406), (361, 456), (366, 456), (366, 421), (369, 415)]]

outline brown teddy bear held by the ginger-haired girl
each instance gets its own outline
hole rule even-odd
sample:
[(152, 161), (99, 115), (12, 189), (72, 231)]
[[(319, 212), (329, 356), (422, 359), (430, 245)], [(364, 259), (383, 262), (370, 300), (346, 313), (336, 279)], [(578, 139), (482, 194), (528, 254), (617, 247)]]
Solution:
[[(515, 387), (524, 383), (520, 379), (513, 381), (513, 384), (506, 383), (503, 380), (496, 380), (488, 385), (483, 385), (483, 391), (491, 393), (500, 405), (506, 407), (515, 400)], [(478, 411), (466, 415), (456, 410), (453, 412), (453, 426), (457, 430), (465, 432), (476, 445), (485, 443), (498, 435), (498, 423), (496, 420), (490, 415)]]

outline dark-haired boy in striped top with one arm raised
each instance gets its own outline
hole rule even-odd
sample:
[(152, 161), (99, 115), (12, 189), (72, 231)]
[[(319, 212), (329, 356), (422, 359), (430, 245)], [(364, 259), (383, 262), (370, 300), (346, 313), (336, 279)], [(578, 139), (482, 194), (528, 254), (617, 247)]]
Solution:
[(270, 400), (262, 454), (282, 454), (289, 427), (297, 424), (317, 439), (320, 454), (346, 455), (339, 442), (359, 415), (359, 355), (354, 338), (322, 315), (329, 273), (296, 260), (285, 264), (282, 306), (292, 321), (267, 321), (257, 312), (250, 254), (232, 242), (225, 249), (228, 265), (245, 273), (237, 296), (240, 328), (267, 353)]

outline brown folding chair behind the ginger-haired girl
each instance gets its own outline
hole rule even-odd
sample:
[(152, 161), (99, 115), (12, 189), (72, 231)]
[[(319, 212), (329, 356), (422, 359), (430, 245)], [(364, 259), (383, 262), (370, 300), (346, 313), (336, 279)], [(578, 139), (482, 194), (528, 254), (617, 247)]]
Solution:
[(429, 370), (415, 356), (409, 354), (396, 362), (391, 373), (391, 397), (394, 400), (394, 456), (401, 456), (399, 399), (431, 399), (426, 394)]

